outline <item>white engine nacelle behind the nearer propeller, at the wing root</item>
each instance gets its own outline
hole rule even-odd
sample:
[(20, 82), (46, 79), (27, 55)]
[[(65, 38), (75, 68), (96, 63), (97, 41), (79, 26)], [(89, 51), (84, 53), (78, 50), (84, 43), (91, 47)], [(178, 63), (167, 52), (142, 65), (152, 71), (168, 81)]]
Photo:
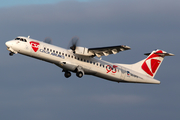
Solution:
[(92, 56), (92, 55), (94, 55), (93, 53), (90, 53), (88, 51), (88, 48), (85, 48), (85, 47), (76, 47), (75, 52), (78, 55), (84, 55), (84, 56)]

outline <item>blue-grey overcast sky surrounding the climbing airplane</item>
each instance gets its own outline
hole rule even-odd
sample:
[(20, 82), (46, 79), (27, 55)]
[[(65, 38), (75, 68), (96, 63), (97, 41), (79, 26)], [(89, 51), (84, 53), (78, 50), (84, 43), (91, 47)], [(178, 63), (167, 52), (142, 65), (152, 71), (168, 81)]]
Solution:
[[(180, 119), (179, 0), (6, 0), (0, 4), (1, 120)], [(135, 63), (154, 49), (174, 53), (155, 79), (160, 85), (115, 83), (93, 76), (66, 79), (57, 66), (20, 54), (5, 42), (28, 36), (67, 48), (128, 45), (103, 57)]]

